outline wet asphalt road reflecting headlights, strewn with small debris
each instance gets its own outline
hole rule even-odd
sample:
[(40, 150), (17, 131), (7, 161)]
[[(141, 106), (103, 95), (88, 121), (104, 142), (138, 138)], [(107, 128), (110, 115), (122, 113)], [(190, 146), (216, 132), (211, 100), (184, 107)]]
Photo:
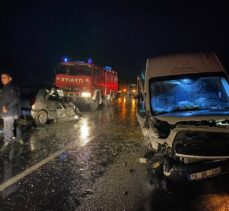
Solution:
[(0, 210), (229, 210), (228, 176), (166, 189), (150, 175), (135, 109), (118, 99), (26, 131), (0, 158)]

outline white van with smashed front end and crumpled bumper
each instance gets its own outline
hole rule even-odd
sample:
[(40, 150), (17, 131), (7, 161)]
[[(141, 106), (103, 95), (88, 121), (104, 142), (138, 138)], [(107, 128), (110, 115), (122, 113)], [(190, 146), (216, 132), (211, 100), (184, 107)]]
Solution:
[(228, 75), (214, 53), (150, 58), (137, 118), (163, 176), (193, 181), (229, 171)]

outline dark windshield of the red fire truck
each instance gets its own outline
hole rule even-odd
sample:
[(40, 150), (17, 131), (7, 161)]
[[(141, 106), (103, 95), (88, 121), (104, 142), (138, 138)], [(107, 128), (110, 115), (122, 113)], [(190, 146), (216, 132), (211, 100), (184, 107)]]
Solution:
[(73, 65), (60, 65), (57, 68), (57, 73), (69, 75), (90, 75), (91, 70), (88, 67), (79, 67)]

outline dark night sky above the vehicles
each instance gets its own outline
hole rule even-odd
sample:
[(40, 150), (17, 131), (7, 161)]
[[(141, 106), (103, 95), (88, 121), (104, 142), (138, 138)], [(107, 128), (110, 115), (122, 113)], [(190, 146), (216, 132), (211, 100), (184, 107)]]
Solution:
[(64, 56), (91, 57), (134, 82), (147, 57), (199, 51), (215, 51), (229, 68), (223, 1), (153, 2), (1, 2), (0, 68), (14, 71), (22, 83), (49, 80)]

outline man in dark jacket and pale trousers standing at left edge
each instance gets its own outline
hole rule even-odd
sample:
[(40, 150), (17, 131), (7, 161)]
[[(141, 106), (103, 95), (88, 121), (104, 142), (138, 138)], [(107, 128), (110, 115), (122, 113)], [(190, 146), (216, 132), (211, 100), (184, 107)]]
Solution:
[(0, 111), (3, 119), (4, 146), (14, 140), (14, 123), (19, 117), (19, 93), (13, 86), (10, 73), (1, 74), (2, 93), (0, 97)]

